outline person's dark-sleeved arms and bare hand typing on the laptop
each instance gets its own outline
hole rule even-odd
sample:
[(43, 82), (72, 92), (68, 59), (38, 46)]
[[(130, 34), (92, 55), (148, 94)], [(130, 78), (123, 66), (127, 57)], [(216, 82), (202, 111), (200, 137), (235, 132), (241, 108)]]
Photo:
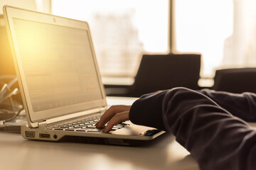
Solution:
[(110, 132), (131, 120), (165, 130), (196, 159), (201, 169), (256, 169), (256, 95), (182, 87), (145, 94), (132, 106), (111, 106), (96, 124)]

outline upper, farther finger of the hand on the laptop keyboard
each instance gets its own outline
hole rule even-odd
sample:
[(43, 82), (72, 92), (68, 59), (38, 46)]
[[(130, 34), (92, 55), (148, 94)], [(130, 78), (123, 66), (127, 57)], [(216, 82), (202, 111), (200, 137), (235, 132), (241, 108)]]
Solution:
[(116, 105), (111, 106), (110, 108), (105, 111), (105, 113), (101, 116), (98, 123), (96, 123), (97, 128), (103, 128), (103, 126), (117, 113), (122, 113), (124, 111), (129, 111), (131, 106), (126, 105)]

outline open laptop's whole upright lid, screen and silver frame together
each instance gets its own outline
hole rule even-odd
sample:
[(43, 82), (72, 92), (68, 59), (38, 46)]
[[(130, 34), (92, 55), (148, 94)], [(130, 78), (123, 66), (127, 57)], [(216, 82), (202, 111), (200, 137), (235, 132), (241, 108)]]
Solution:
[(4, 6), (28, 123), (106, 106), (87, 22)]

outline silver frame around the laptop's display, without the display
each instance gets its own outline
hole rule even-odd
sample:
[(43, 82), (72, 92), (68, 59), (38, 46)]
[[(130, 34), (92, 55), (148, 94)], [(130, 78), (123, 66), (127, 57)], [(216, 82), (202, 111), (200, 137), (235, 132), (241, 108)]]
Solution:
[[(21, 8), (16, 8), (13, 6), (4, 6), (3, 7), (4, 16), (7, 21), (7, 30), (9, 33), (9, 40), (11, 43), (11, 50), (14, 58), (14, 65), (16, 68), (16, 74), (18, 77), (18, 84), (21, 90), (21, 97), (23, 99), (23, 105), (26, 109), (26, 115), (30, 124), (38, 123), (43, 120), (48, 120), (50, 118), (57, 118), (62, 115), (68, 115), (72, 113), (78, 113), (81, 111), (86, 111), (94, 108), (102, 108), (107, 106), (105, 89), (101, 81), (100, 71), (98, 68), (97, 60), (95, 57), (95, 50), (92, 44), (92, 38), (90, 34), (90, 28), (88, 23), (85, 21), (76, 21), (70, 18), (63, 18), (60, 16), (53, 16), (47, 13), (39, 13), (35, 11), (28, 11)], [(26, 83), (26, 77), (23, 70), (23, 65), (21, 62), (21, 55), (18, 50), (18, 43), (16, 39), (16, 31), (14, 28), (13, 18), (28, 20), (28, 21), (36, 21), (40, 23), (49, 23), (57, 26), (65, 26), (70, 28), (78, 28), (82, 30), (87, 30), (89, 35), (89, 41), (92, 50), (92, 56), (95, 64), (95, 69), (97, 72), (97, 79), (100, 85), (100, 91), (102, 94), (102, 99), (96, 101), (90, 101), (85, 103), (78, 103), (72, 106), (63, 106), (61, 108), (52, 108), (46, 111), (37, 111), (34, 112), (32, 108), (31, 98), (28, 92), (28, 85)]]

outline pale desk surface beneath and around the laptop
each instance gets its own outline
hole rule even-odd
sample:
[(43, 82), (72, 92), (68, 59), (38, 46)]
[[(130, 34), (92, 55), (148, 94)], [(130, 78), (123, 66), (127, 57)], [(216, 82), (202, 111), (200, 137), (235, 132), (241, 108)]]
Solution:
[[(110, 104), (132, 100), (108, 98)], [(25, 140), (0, 133), (0, 169), (198, 169), (198, 164), (172, 135), (139, 147)]]

